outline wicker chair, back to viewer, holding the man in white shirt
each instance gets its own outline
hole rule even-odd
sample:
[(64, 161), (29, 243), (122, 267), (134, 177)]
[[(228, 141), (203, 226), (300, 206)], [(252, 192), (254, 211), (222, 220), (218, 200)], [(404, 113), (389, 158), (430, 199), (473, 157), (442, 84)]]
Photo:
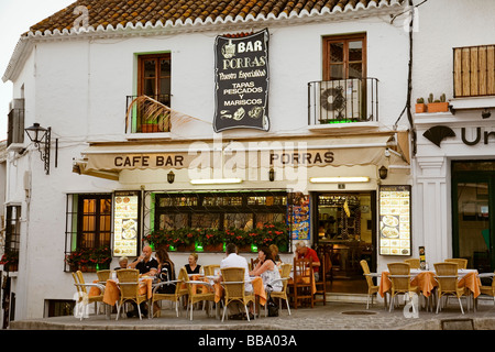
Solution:
[(244, 271), (243, 267), (224, 267), (221, 270), (222, 286), (226, 289), (222, 321), (226, 318), (227, 306), (233, 301), (239, 301), (244, 306), (245, 315), (250, 321), (248, 304), (251, 301), (254, 306), (255, 298), (254, 294), (246, 294), (244, 290)]

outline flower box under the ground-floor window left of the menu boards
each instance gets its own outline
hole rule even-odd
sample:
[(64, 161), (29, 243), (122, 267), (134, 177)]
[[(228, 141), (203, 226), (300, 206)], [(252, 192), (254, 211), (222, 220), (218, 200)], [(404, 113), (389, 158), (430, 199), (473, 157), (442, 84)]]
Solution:
[(79, 249), (66, 255), (72, 272), (97, 272), (110, 268), (112, 254), (108, 245), (98, 249)]

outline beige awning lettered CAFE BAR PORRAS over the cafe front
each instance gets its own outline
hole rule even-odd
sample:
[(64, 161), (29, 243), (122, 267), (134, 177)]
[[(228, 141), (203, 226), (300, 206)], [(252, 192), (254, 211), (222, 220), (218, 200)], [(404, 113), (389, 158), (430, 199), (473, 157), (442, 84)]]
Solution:
[[(121, 170), (133, 169), (408, 165), (407, 145), (407, 132), (179, 143), (94, 143), (81, 153), (82, 158), (75, 162), (74, 170), (118, 179)], [(395, 153), (385, 153), (387, 148)]]

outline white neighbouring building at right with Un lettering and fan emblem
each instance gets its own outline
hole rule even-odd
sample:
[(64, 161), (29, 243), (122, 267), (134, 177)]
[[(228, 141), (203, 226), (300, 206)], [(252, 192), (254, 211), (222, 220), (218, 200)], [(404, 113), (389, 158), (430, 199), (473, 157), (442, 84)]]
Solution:
[[(440, 15), (447, 8), (448, 15)], [(425, 245), (430, 265), (454, 256), (481, 272), (495, 266), (494, 11), (493, 1), (419, 8), (413, 97), (444, 94), (450, 108), (414, 116), (415, 248)]]

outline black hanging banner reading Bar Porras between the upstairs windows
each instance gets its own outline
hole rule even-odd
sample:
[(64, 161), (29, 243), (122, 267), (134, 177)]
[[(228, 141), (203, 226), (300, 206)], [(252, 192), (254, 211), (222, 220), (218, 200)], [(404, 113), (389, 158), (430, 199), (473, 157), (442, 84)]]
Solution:
[(215, 41), (213, 129), (268, 131), (268, 31)]

